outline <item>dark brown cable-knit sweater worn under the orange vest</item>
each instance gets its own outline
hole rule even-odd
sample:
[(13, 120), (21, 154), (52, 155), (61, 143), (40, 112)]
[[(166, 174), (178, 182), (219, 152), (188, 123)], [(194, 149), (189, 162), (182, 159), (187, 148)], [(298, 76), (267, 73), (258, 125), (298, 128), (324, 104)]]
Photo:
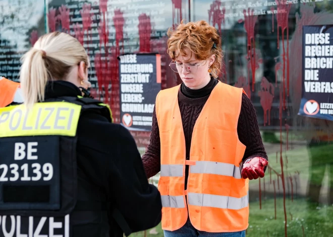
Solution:
[[(191, 138), (194, 124), (206, 103), (211, 91), (217, 85), (218, 81), (211, 79), (207, 86), (199, 90), (191, 90), (184, 84), (178, 93), (178, 103), (182, 116), (183, 129), (186, 142), (186, 159), (189, 159)], [(251, 100), (243, 94), (242, 107), (238, 119), (237, 133), (239, 140), (246, 145), (243, 161), (259, 156), (267, 159), (267, 154), (262, 143), (257, 116)], [(268, 160), (268, 159), (267, 159)], [(154, 108), (150, 143), (146, 153), (142, 156), (142, 162), (147, 177), (150, 178), (160, 171), (160, 138), (159, 129)], [(188, 166), (186, 166), (186, 177)], [(185, 181), (185, 184), (187, 182)]]

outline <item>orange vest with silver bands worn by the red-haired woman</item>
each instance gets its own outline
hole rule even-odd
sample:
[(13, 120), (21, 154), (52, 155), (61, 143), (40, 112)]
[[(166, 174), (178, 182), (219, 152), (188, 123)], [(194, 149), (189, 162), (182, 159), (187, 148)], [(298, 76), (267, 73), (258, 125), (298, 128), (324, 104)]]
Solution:
[(248, 179), (242, 178), (239, 165), (246, 146), (237, 134), (245, 92), (220, 82), (215, 86), (195, 123), (190, 160), (186, 160), (179, 88), (160, 91), (155, 105), (161, 147), (158, 190), (163, 206), (162, 229), (181, 228), (189, 213), (198, 230), (245, 230), (249, 217)]

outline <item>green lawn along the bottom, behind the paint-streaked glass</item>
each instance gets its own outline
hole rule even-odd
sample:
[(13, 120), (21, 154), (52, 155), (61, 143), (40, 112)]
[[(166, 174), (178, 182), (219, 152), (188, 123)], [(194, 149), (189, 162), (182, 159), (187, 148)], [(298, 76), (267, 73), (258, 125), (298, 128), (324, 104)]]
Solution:
[[(274, 200), (265, 200), (262, 209), (259, 203), (250, 203), (250, 219), (247, 237), (267, 237), (285, 235), (285, 215), (283, 209), (283, 199), (276, 200), (277, 212), (274, 219)], [(333, 206), (321, 206), (307, 203), (304, 199), (296, 199), (294, 202), (287, 200), (287, 230), (288, 236), (332, 236), (333, 231)], [(292, 215), (292, 219), (291, 219)], [(155, 228), (157, 234), (146, 236), (163, 236), (160, 224)], [(133, 233), (130, 235), (144, 236), (144, 232)]]

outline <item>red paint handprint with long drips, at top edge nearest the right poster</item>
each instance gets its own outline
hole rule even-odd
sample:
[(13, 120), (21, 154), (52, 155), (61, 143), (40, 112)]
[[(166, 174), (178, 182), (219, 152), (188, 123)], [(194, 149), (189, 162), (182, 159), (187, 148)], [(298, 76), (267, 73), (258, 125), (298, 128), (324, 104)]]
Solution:
[(278, 21), (278, 48), (279, 48), (279, 28), (282, 31), (282, 45), (283, 45), (283, 108), (286, 109), (286, 50), (285, 50), (285, 30), (287, 30), (287, 95), (289, 96), (289, 27), (288, 18), (289, 12), (292, 7), (291, 4), (287, 4), (287, 0), (275, 0), (276, 5), (278, 5), (278, 13), (276, 18)]

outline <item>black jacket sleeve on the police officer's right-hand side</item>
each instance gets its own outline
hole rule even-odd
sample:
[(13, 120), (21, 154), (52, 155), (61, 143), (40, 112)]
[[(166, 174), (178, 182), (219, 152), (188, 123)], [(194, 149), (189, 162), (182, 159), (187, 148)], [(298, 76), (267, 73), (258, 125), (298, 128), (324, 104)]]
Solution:
[[(92, 177), (104, 184), (109, 212), (117, 208), (132, 232), (156, 226), (161, 221), (160, 194), (155, 186), (148, 184), (131, 133), (97, 113), (80, 117), (79, 126), (81, 150), (92, 153), (94, 164), (99, 164)], [(110, 219), (110, 225), (114, 221)]]

